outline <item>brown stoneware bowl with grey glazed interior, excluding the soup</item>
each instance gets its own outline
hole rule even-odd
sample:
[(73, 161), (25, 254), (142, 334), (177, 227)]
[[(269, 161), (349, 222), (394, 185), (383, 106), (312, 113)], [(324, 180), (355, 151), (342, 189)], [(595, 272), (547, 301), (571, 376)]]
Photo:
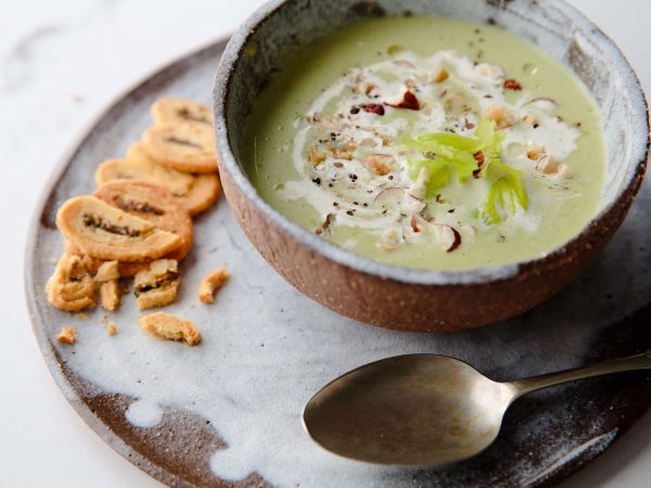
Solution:
[[(244, 121), (270, 74), (297, 49), (344, 24), (407, 13), (501, 26), (538, 44), (583, 79), (604, 115), (609, 175), (602, 207), (580, 235), (526, 262), (460, 272), (409, 270), (332, 245), (258, 196), (240, 156), (248, 142)], [(622, 223), (642, 181), (649, 149), (647, 105), (635, 73), (614, 43), (562, 0), (272, 1), (229, 42), (214, 105), (225, 193), (260, 254), (296, 288), (332, 310), (404, 331), (485, 325), (522, 313), (560, 291)]]

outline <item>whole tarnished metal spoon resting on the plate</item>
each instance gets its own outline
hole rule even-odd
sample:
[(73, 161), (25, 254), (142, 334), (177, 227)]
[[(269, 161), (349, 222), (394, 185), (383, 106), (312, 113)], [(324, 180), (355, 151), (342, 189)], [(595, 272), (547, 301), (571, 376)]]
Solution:
[(509, 406), (540, 388), (651, 369), (651, 350), (559, 373), (494, 382), (445, 356), (398, 356), (340, 376), (305, 407), (303, 424), (335, 454), (379, 464), (438, 465), (471, 458), (497, 437)]

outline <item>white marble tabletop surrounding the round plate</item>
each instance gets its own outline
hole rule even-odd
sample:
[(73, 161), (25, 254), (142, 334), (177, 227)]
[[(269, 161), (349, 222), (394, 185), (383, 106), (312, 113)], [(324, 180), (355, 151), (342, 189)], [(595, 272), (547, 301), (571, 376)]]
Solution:
[[(0, 4), (0, 486), (159, 486), (69, 408), (31, 335), (23, 299), (28, 220), (55, 163), (125, 89), (231, 31), (259, 0), (22, 0)], [(573, 0), (622, 47), (651, 91), (649, 0)], [(11, 232), (11, 234), (10, 234)], [(646, 487), (651, 416), (566, 486)]]

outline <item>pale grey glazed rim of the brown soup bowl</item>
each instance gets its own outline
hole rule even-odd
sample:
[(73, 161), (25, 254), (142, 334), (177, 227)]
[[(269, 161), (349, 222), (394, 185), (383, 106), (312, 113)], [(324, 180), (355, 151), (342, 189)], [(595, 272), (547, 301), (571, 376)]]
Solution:
[[(649, 133), (649, 107), (639, 78), (617, 44), (605, 33), (603, 33), (603, 30), (593, 24), (592, 21), (590, 21), (583, 12), (569, 4), (565, 0), (549, 0), (549, 7), (553, 7), (563, 11), (573, 20), (575, 24), (577, 24), (578, 27), (592, 33), (592, 35), (600, 40), (603, 50), (608, 51), (612, 59), (615, 60), (616, 64), (613, 66), (613, 70), (618, 70), (622, 74), (623, 79), (628, 80), (629, 89), (631, 91), (631, 99), (634, 100), (634, 106), (639, 107), (639, 110), (631, 113), (630, 116), (639, 119), (638, 123), (641, 130), (639, 132), (640, 140), (639, 142), (634, 141), (634, 144), (639, 144), (640, 149), (638, 150), (638, 154), (631, 154), (628, 156), (629, 162), (625, 168), (627, 171), (625, 181), (612, 201), (604, 205), (599, 213), (586, 223), (586, 226), (577, 235), (561, 246), (542, 253), (541, 255), (532, 259), (498, 266), (484, 266), (462, 270), (425, 270), (407, 268), (375, 261), (355, 254), (352, 251), (344, 249), (343, 247), (340, 247), (329, 241), (324, 241), (314, 232), (304, 229), (297, 223), (294, 223), (288, 217), (283, 216), (281, 213), (271, 207), (271, 205), (269, 205), (258, 194), (257, 190), (246, 177), (243, 168), (240, 166), (232, 152), (227, 125), (228, 108), (226, 100), (231, 88), (232, 75), (234, 73), (235, 65), (240, 56), (244, 55), (246, 43), (255, 35), (260, 25), (263, 25), (278, 10), (293, 1), (297, 0), (268, 1), (258, 8), (253, 14), (251, 14), (235, 30), (226, 47), (215, 75), (213, 85), (213, 112), (220, 170), (228, 172), (229, 177), (238, 185), (239, 190), (250, 202), (252, 202), (259, 210), (261, 210), (265, 218), (271, 220), (271, 222), (282, 232), (290, 235), (301, 244), (307, 246), (312, 253), (324, 256), (337, 265), (350, 268), (361, 273), (409, 284), (469, 285), (508, 280), (522, 274), (527, 269), (537, 268), (542, 265), (553, 266), (556, 262), (556, 266), (562, 266), (562, 257), (565, 255), (566, 251), (573, 246), (573, 244), (582, 242), (591, 234), (595, 228), (599, 228), (600, 222), (625, 195), (627, 195), (629, 192), (633, 192), (635, 195), (639, 190), (639, 187), (641, 185), (641, 178), (643, 178), (646, 172), (649, 147), (651, 144)], [(643, 152), (641, 149), (642, 144), (646, 145)], [(634, 159), (638, 157), (639, 160), (635, 162), (634, 166)], [(640, 178), (638, 178), (638, 175)]]

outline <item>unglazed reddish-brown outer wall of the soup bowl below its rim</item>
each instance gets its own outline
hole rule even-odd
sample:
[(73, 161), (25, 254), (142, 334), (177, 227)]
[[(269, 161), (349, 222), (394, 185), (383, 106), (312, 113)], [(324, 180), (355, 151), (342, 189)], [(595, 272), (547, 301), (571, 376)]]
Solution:
[(221, 169), (224, 191), (240, 226), (292, 285), (332, 310), (401, 331), (448, 332), (497, 322), (532, 309), (573, 280), (622, 223), (643, 175), (617, 204), (563, 252), (523, 265), (512, 278), (476, 284), (425, 285), (365, 273), (337, 264), (268, 219)]

